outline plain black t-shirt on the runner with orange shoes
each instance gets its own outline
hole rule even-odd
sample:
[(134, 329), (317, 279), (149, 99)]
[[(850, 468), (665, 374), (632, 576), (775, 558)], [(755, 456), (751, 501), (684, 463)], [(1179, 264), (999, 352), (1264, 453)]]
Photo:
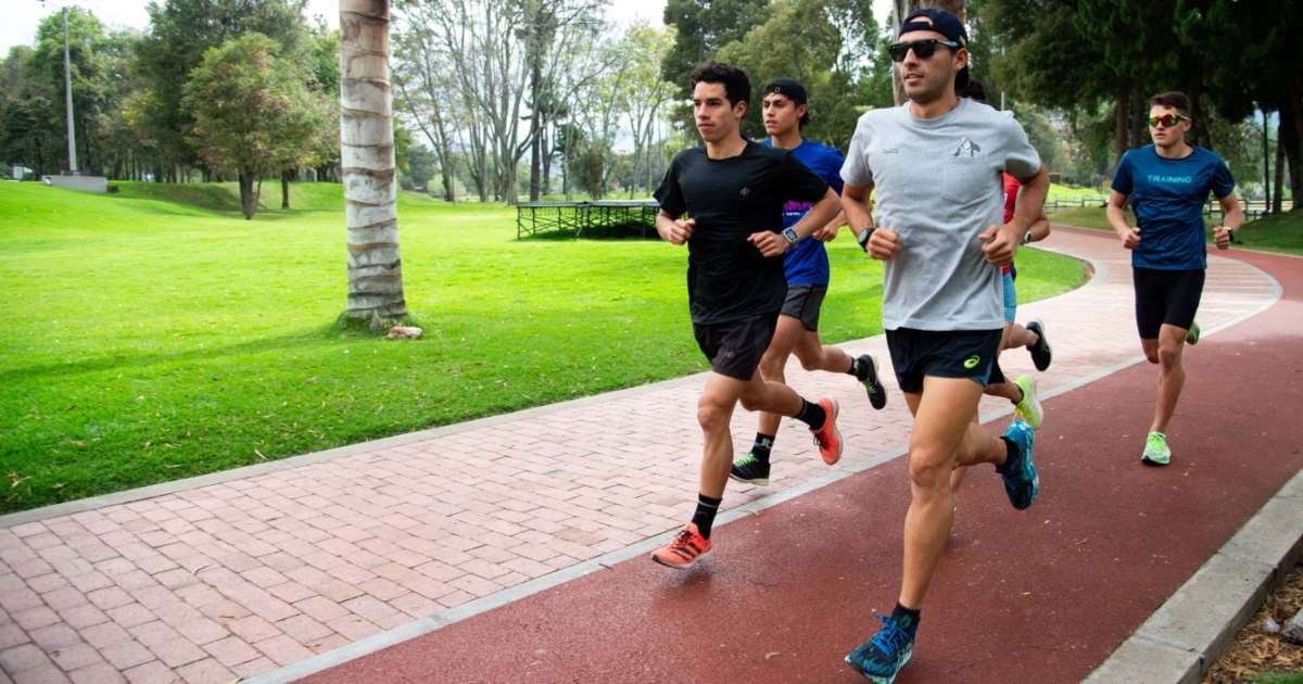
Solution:
[(747, 236), (782, 232), (784, 202), (817, 202), (826, 192), (827, 182), (787, 150), (751, 141), (728, 159), (710, 159), (705, 147), (675, 155), (655, 198), (666, 214), (697, 220), (688, 240), (692, 322), (779, 311), (787, 297), (783, 259), (766, 259)]

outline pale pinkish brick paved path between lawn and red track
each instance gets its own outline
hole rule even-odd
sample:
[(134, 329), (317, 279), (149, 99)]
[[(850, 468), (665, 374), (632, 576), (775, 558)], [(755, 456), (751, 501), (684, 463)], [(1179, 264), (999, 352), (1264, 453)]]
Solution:
[[(1139, 343), (1128, 254), (1087, 232), (1059, 231), (1048, 245), (1096, 268), (1085, 287), (1019, 311), (1046, 322), (1055, 358), (1041, 391), (1055, 393), (1134, 362)], [(1212, 257), (1199, 321), (1213, 331), (1276, 292), (1251, 266)], [(881, 336), (842, 347), (887, 361)], [(1020, 352), (1002, 365), (1010, 377), (1032, 371)], [(227, 683), (452, 619), (459, 606), (509, 599), (530, 580), (641, 545), (691, 513), (702, 378), (0, 519), (0, 683)], [(904, 444), (894, 379), (887, 409), (874, 412), (846, 375), (794, 365), (788, 378), (842, 403), (838, 469)], [(754, 425), (735, 417), (739, 447)], [(731, 487), (724, 508), (829, 474), (790, 421), (775, 453), (774, 485)]]

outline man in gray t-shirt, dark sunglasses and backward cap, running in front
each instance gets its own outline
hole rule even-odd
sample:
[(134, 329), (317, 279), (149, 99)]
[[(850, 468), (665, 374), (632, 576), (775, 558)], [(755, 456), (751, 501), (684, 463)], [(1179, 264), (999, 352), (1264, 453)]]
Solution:
[[(893, 681), (913, 653), (954, 520), (951, 470), (993, 464), (1018, 509), (1036, 500), (1040, 485), (1033, 430), (1015, 420), (997, 436), (976, 418), (1005, 324), (999, 270), (1040, 215), (1049, 180), (1016, 121), (955, 95), (968, 81), (967, 44), (949, 12), (906, 17), (891, 59), (908, 102), (861, 116), (842, 167), (847, 219), (885, 262), (882, 327), (915, 417), (900, 593), (877, 634), (846, 657), (877, 683)], [(1007, 223), (1006, 171), (1024, 184)]]

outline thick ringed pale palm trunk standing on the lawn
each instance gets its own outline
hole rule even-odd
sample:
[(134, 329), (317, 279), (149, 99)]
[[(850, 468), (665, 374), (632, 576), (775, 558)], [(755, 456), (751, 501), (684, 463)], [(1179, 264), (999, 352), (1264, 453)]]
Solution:
[(399, 259), (390, 1), (340, 0), (340, 165), (348, 223), (348, 307), (354, 319), (407, 315)]

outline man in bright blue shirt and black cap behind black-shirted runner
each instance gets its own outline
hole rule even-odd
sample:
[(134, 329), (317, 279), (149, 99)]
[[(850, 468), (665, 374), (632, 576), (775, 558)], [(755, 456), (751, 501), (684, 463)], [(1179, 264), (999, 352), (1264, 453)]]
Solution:
[[(846, 158), (835, 147), (801, 138), (801, 126), (809, 121), (805, 86), (792, 78), (775, 78), (764, 89), (761, 100), (765, 117), (766, 147), (790, 150), (810, 171), (827, 181), (833, 192), (842, 193), (842, 163)], [(801, 220), (813, 202), (788, 201), (783, 205), (783, 225)], [(827, 370), (853, 375), (869, 393), (876, 409), (886, 405), (887, 395), (878, 380), (878, 362), (870, 354), (852, 358), (838, 347), (823, 347), (818, 339), (818, 314), (827, 294), (829, 266), (823, 242), (837, 237), (846, 215), (838, 215), (817, 228), (809, 237), (792, 245), (783, 255), (787, 298), (778, 317), (774, 337), (760, 360), (760, 375), (766, 380), (786, 383), (783, 369), (787, 357), (796, 353), (805, 370)], [(778, 435), (782, 416), (764, 412), (756, 431), (756, 443), (737, 459), (728, 477), (751, 485), (769, 485), (769, 455)]]

